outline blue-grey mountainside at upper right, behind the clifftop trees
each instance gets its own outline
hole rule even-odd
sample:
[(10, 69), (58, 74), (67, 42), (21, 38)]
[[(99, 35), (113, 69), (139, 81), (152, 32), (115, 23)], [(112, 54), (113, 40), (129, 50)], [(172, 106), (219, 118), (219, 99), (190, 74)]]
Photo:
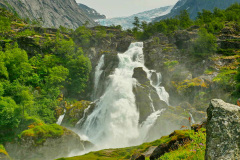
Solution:
[(154, 18), (155, 21), (159, 21), (161, 19), (173, 18), (179, 15), (181, 10), (187, 10), (190, 14), (191, 19), (195, 19), (197, 17), (197, 13), (201, 12), (202, 9), (213, 11), (215, 7), (220, 9), (226, 9), (233, 3), (240, 3), (240, 0), (179, 0), (175, 6), (172, 8), (171, 12)]

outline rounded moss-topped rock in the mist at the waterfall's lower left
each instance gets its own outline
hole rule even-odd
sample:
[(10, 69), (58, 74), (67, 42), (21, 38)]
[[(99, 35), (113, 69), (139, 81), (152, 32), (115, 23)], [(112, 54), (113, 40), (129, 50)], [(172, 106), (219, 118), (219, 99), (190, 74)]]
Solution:
[(5, 148), (15, 160), (50, 160), (83, 151), (84, 143), (76, 133), (52, 124), (23, 131), (18, 142)]

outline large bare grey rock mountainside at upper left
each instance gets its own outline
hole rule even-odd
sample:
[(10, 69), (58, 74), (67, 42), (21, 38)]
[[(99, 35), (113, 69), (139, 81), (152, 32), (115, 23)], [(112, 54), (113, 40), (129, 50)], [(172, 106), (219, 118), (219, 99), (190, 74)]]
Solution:
[(75, 29), (86, 21), (89, 27), (95, 26), (95, 22), (78, 7), (75, 0), (0, 0), (0, 6), (18, 13), (22, 18), (41, 19), (44, 27), (62, 25)]

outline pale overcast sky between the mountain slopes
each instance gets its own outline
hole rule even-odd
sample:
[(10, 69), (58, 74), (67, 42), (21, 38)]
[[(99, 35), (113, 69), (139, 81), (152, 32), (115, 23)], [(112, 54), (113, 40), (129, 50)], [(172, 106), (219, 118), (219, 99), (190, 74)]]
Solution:
[(132, 14), (159, 8), (167, 5), (174, 5), (178, 0), (76, 0), (99, 13), (105, 14), (108, 18), (130, 16)]

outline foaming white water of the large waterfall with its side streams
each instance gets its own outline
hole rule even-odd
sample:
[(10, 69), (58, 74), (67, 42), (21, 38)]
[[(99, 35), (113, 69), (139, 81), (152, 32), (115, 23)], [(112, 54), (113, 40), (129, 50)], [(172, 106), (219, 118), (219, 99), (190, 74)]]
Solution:
[[(142, 143), (149, 129), (162, 113), (155, 111), (153, 103), (152, 114), (142, 125), (139, 125), (139, 112), (135, 103), (133, 86), (137, 85), (136, 79), (132, 78), (134, 68), (142, 67), (147, 73), (151, 84), (151, 72), (144, 66), (143, 43), (132, 43), (123, 54), (118, 54), (119, 65), (114, 73), (109, 76), (109, 84), (104, 94), (96, 102), (96, 108), (88, 115), (84, 122), (82, 120), (79, 130), (80, 135), (88, 137), (98, 149), (126, 147)], [(104, 57), (102, 56), (95, 72), (95, 90), (102, 74)], [(160, 75), (160, 74), (159, 74)], [(169, 95), (160, 87), (161, 78), (158, 77), (156, 85), (152, 85), (161, 100), (168, 103)], [(97, 91), (94, 91), (96, 94)], [(165, 95), (163, 95), (165, 94)], [(95, 97), (95, 96), (94, 96)], [(150, 99), (151, 96), (149, 95)]]

